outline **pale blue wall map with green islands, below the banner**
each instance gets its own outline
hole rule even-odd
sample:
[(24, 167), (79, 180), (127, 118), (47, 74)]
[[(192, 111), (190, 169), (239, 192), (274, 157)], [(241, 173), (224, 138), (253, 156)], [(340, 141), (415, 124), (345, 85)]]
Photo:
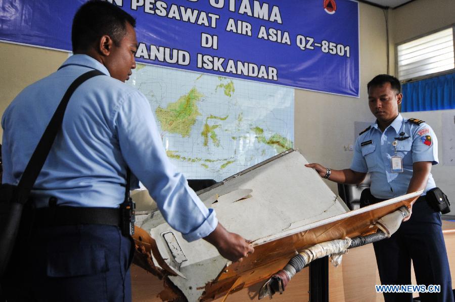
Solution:
[(138, 64), (168, 157), (188, 179), (245, 170), (294, 146), (294, 89)]

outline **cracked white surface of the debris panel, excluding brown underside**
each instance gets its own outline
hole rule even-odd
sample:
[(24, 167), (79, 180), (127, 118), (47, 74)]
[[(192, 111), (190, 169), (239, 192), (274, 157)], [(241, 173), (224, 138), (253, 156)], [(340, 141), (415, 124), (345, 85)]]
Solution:
[[(202, 193), (201, 200), (207, 204), (219, 196), (219, 202), (212, 204), (212, 208), (220, 223), (232, 232), (253, 241), (259, 239), (261, 243), (281, 237), (283, 232), (290, 231), (291, 226), (308, 225), (346, 213), (344, 203), (313, 169), (304, 166), (306, 163), (300, 153), (290, 152)], [(231, 200), (222, 198), (228, 193), (236, 197)], [(246, 199), (235, 200), (244, 194), (248, 194)], [(152, 221), (146, 220), (142, 225), (156, 226), (161, 219), (155, 215), (149, 219)], [(169, 259), (174, 268), (180, 266), (180, 273), (188, 278), (171, 277), (171, 280), (190, 301), (199, 298), (205, 284), (216, 278), (227, 263), (212, 245), (204, 240), (189, 243), (167, 223), (152, 228), (150, 232), (163, 258)], [(174, 234), (187, 259), (181, 264), (173, 260), (163, 239), (163, 234), (168, 232)], [(177, 254), (181, 255), (180, 252)]]

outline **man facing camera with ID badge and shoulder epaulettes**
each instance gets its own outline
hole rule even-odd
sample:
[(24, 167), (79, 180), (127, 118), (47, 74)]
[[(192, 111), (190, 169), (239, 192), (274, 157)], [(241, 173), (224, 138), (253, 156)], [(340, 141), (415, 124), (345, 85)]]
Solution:
[[(390, 238), (373, 243), (382, 284), (411, 284), (411, 260), (418, 284), (440, 285), (440, 293), (420, 293), (422, 301), (453, 301), (450, 270), (441, 230), (441, 214), (427, 203), (434, 188), (431, 166), (438, 163), (433, 129), (398, 113), (399, 81), (378, 75), (368, 83), (369, 106), (376, 123), (363, 130), (354, 147), (349, 169), (333, 170), (308, 164), (322, 177), (338, 183), (359, 184), (371, 174), (374, 203), (424, 190), (411, 205), (412, 216)], [(386, 302), (412, 301), (412, 293), (384, 293)]]

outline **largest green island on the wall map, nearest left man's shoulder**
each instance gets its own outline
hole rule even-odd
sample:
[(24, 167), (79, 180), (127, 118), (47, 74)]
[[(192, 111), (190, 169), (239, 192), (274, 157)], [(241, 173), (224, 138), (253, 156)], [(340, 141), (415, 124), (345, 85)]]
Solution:
[(191, 128), (201, 113), (196, 103), (204, 95), (196, 87), (178, 98), (174, 103), (169, 103), (166, 108), (158, 107), (156, 117), (161, 123), (161, 129), (181, 136), (190, 136)]

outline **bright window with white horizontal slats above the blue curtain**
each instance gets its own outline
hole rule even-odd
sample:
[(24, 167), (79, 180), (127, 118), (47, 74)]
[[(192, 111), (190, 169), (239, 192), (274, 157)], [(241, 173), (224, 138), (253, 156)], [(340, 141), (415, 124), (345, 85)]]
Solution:
[(454, 69), (454, 62), (453, 27), (397, 45), (400, 81)]

